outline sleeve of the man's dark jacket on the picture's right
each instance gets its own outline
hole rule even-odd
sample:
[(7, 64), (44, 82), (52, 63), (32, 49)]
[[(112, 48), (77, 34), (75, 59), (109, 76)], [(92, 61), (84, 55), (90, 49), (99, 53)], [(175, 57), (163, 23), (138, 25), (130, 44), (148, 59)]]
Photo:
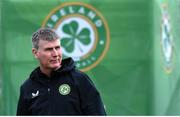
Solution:
[(101, 96), (86, 74), (81, 78), (79, 91), (84, 115), (106, 115)]

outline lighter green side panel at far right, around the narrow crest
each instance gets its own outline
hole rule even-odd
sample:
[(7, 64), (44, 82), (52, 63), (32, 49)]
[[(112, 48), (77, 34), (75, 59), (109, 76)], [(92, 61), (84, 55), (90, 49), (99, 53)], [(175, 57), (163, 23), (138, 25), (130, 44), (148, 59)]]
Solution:
[[(179, 91), (180, 91), (180, 1), (178, 0), (157, 0), (154, 3), (153, 17), (153, 114), (157, 115), (179, 115)], [(162, 24), (163, 12), (168, 13), (169, 25), (171, 30), (169, 35), (172, 40), (172, 57), (169, 65), (164, 62), (162, 43)], [(169, 66), (169, 69), (167, 69)], [(171, 71), (171, 72), (169, 72)]]

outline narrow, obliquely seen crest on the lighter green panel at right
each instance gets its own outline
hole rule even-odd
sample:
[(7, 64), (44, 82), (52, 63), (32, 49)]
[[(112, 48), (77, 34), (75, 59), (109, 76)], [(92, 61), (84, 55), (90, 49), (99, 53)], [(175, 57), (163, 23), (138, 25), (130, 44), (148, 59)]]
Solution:
[(173, 36), (172, 29), (170, 25), (170, 18), (167, 11), (167, 4), (162, 5), (162, 24), (161, 24), (161, 48), (163, 54), (163, 63), (167, 73), (170, 73), (173, 68), (173, 56), (174, 56), (174, 46), (173, 46)]

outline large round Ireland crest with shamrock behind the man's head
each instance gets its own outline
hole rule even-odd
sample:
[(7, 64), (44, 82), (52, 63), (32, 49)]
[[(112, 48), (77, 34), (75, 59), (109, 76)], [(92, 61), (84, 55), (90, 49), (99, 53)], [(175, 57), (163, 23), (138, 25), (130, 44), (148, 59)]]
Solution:
[(108, 25), (100, 12), (89, 4), (63, 3), (49, 13), (42, 27), (57, 31), (63, 57), (72, 57), (82, 71), (95, 67), (109, 48)]

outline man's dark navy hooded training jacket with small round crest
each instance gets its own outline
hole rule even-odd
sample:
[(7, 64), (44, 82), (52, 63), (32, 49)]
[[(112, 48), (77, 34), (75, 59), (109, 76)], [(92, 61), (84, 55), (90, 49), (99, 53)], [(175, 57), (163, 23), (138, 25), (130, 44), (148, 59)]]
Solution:
[(20, 88), (17, 115), (106, 115), (90, 78), (71, 58), (47, 77), (36, 68)]

